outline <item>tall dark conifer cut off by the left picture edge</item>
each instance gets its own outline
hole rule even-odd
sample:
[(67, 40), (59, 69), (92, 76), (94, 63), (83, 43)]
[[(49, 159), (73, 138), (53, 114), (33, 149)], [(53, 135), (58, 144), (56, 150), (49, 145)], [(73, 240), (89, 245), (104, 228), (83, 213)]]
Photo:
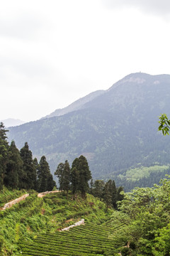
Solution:
[(8, 142), (6, 140), (6, 132), (4, 124), (0, 123), (0, 191), (3, 188), (4, 176), (6, 172), (6, 164), (8, 162)]

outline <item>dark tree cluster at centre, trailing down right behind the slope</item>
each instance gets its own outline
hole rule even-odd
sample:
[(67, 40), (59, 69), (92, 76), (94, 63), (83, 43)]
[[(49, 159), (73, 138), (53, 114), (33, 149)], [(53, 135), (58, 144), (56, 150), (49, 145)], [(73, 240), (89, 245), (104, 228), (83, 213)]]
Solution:
[(67, 160), (60, 163), (55, 171), (55, 176), (60, 183), (60, 190), (66, 191), (67, 197), (71, 190), (74, 200), (78, 191), (81, 192), (82, 198), (86, 197), (86, 192), (100, 198), (106, 203), (107, 209), (109, 206), (117, 209), (117, 202), (123, 200), (123, 195), (120, 193), (123, 191), (123, 187), (116, 188), (115, 181), (109, 180), (106, 183), (103, 180), (93, 181), (85, 156), (81, 155), (74, 159), (71, 168)]

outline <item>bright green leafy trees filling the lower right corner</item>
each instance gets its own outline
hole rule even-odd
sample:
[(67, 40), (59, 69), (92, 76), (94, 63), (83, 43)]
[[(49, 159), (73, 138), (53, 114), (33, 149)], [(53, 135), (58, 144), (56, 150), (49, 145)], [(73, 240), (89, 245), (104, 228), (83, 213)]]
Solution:
[(122, 193), (119, 211), (103, 224), (113, 230), (115, 247), (129, 245), (123, 248), (127, 255), (169, 255), (170, 176), (152, 188)]

